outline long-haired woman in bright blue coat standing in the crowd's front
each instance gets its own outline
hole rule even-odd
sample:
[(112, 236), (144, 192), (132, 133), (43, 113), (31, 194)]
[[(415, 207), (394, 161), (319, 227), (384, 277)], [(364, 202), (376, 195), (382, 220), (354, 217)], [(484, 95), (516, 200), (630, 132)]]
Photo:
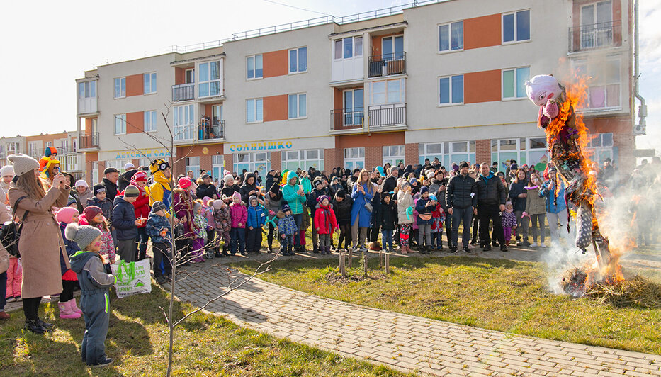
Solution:
[(360, 247), (364, 249), (364, 242), (367, 237), (367, 230), (370, 227), (371, 210), (366, 208), (374, 197), (376, 191), (375, 184), (370, 181), (369, 171), (363, 169), (360, 171), (358, 181), (351, 188), (351, 198), (354, 204), (351, 206), (351, 241), (354, 249)]

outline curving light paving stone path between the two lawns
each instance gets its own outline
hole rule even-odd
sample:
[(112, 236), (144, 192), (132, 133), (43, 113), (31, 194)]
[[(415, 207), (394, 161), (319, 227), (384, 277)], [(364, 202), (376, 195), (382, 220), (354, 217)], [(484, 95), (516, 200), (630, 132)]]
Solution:
[[(203, 305), (227, 286), (227, 272), (208, 261), (181, 271), (179, 283), (179, 298)], [(259, 278), (210, 304), (208, 310), (276, 337), (434, 376), (661, 376), (661, 356), (657, 355), (366, 308)]]

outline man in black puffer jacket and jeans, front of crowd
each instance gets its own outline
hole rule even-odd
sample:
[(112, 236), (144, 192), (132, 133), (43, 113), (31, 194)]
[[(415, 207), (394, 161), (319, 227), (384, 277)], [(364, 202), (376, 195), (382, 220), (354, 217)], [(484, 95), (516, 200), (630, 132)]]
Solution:
[(475, 195), (477, 188), (475, 179), (468, 175), (468, 162), (462, 161), (458, 165), (459, 174), (448, 181), (446, 189), (446, 203), (448, 213), (452, 215), (452, 247), (450, 252), (457, 252), (459, 240), (459, 223), (463, 220), (463, 233), (461, 242), (463, 251), (470, 253), (468, 242), (470, 241), (470, 223), (473, 220), (473, 212), (478, 206), (478, 197)]

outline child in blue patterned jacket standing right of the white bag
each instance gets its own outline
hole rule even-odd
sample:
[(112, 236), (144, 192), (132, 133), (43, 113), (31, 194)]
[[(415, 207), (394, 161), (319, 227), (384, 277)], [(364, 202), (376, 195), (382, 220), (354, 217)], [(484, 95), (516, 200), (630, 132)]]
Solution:
[[(152, 252), (154, 253), (154, 279), (158, 284), (172, 281), (172, 265), (170, 254), (171, 225), (165, 217), (167, 208), (161, 201), (155, 201), (152, 212), (149, 213), (145, 231), (152, 238)], [(161, 262), (165, 267), (165, 276), (161, 271)]]

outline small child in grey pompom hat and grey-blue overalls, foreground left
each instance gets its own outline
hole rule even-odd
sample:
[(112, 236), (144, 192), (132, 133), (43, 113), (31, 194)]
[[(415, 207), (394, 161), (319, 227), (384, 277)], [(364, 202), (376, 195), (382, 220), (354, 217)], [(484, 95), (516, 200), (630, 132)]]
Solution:
[(85, 333), (81, 343), (82, 359), (89, 366), (108, 366), (113, 359), (106, 356), (108, 334), (108, 288), (115, 283), (115, 276), (106, 274), (101, 249), (101, 230), (89, 225), (69, 224), (64, 229), (67, 240), (76, 242), (83, 250), (71, 257), (71, 268), (80, 283), (80, 306), (85, 316)]

